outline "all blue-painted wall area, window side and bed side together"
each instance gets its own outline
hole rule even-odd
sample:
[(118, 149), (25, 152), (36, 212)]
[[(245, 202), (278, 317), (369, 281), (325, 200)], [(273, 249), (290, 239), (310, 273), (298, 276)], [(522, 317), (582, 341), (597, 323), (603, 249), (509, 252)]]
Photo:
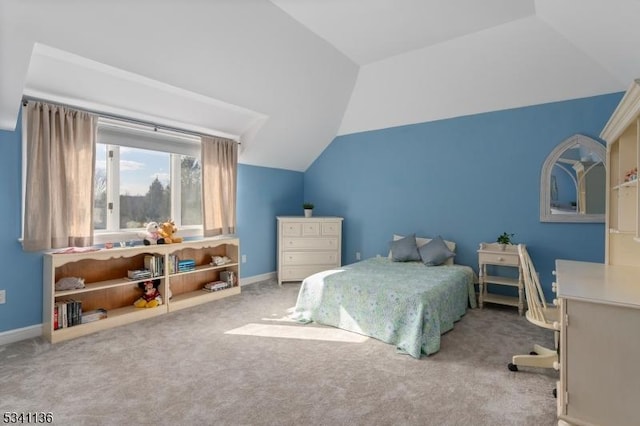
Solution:
[[(336, 138), (306, 173), (240, 165), (242, 277), (276, 270), (277, 215), (345, 218), (343, 262), (386, 254), (393, 233), (458, 243), (457, 262), (477, 270), (476, 250), (507, 231), (526, 243), (550, 297), (557, 258), (602, 262), (603, 224), (539, 222), (540, 169), (551, 150), (582, 133), (598, 139), (622, 93)], [(18, 126), (19, 127), (19, 126)], [(42, 322), (42, 256), (22, 251), (21, 133), (0, 131), (0, 332)], [(303, 196), (304, 195), (304, 196)]]

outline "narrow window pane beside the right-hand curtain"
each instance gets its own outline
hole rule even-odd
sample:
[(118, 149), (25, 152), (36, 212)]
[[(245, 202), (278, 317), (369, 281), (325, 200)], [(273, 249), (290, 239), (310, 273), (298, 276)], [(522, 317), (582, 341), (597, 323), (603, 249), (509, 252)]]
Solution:
[(200, 161), (180, 156), (180, 209), (182, 225), (202, 225), (202, 172)]

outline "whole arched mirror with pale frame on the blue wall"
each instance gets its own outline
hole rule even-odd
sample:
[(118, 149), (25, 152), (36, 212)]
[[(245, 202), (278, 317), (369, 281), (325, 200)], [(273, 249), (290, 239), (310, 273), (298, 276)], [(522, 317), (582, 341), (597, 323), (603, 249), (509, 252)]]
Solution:
[(604, 222), (606, 150), (583, 135), (559, 144), (540, 175), (541, 222)]

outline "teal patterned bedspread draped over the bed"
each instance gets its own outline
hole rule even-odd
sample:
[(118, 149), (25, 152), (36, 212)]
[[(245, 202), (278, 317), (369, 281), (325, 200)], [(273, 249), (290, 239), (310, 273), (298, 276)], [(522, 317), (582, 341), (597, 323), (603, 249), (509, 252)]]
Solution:
[(319, 272), (300, 287), (292, 318), (315, 321), (395, 345), (420, 358), (475, 307), (468, 266), (425, 266), (376, 257)]

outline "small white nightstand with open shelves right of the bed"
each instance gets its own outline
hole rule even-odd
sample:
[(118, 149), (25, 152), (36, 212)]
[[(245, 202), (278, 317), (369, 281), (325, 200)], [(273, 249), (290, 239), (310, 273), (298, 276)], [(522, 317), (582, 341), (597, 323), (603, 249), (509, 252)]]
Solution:
[[(487, 265), (517, 268), (518, 278), (489, 275), (487, 271), (493, 271), (491, 271), (491, 268), (488, 269)], [(517, 306), (518, 313), (522, 315), (524, 313), (524, 281), (522, 278), (522, 267), (520, 266), (520, 256), (518, 255), (518, 246), (498, 243), (480, 243), (480, 249), (478, 249), (478, 266), (480, 292), (478, 305), (480, 308), (483, 307), (485, 302)], [(518, 289), (518, 297), (489, 293), (488, 284), (516, 287)]]

